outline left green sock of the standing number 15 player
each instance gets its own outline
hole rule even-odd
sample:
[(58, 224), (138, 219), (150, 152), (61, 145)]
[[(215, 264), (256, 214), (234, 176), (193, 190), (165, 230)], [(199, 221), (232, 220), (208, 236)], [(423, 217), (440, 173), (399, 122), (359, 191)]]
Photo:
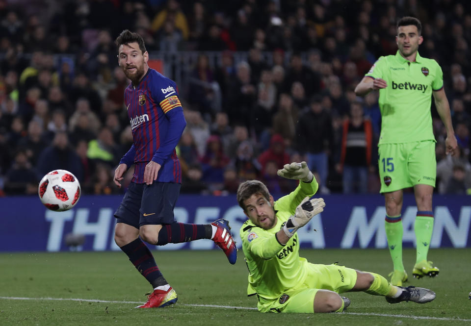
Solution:
[(404, 231), (402, 229), (401, 215), (386, 215), (384, 228), (388, 238), (388, 248), (394, 270), (402, 272), (404, 270), (404, 265), (402, 264), (402, 233)]

